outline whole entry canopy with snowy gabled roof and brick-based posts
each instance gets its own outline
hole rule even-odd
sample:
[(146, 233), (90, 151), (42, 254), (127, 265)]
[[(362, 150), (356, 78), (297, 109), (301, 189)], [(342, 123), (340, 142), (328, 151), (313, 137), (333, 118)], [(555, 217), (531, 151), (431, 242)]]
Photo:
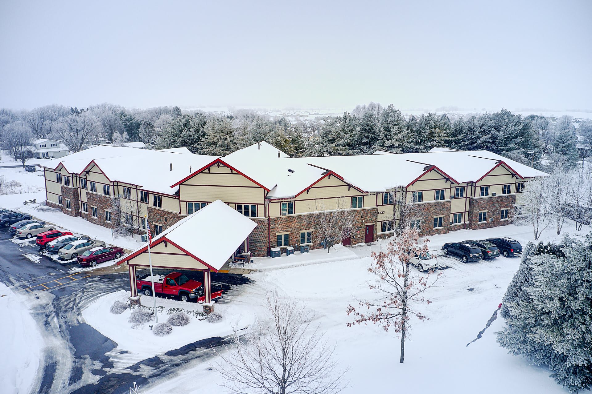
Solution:
[(243, 245), (257, 224), (220, 200), (173, 224), (148, 244), (134, 250), (117, 264), (127, 262), (130, 304), (141, 305), (136, 287), (136, 269), (149, 267), (171, 271), (193, 270), (204, 274), (204, 312), (213, 311), (211, 272), (218, 272)]

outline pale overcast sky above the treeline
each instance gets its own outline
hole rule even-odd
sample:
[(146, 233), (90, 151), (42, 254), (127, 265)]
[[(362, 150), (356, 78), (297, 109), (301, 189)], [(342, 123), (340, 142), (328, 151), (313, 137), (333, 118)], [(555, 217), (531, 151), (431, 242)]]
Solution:
[(592, 1), (0, 0), (0, 107), (592, 110)]

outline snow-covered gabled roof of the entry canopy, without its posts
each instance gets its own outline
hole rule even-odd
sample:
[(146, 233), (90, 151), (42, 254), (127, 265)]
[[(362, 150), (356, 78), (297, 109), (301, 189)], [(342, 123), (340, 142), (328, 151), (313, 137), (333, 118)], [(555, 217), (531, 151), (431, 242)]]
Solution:
[[(256, 226), (253, 220), (216, 200), (153, 237), (150, 248), (168, 242), (211, 271), (217, 272)], [(162, 252), (166, 249), (159, 250)], [(143, 245), (118, 264), (130, 261), (147, 251), (148, 245)], [(153, 265), (159, 265), (159, 256), (152, 256)], [(202, 264), (197, 263), (197, 266), (201, 267)], [(188, 267), (183, 265), (183, 268)]]

